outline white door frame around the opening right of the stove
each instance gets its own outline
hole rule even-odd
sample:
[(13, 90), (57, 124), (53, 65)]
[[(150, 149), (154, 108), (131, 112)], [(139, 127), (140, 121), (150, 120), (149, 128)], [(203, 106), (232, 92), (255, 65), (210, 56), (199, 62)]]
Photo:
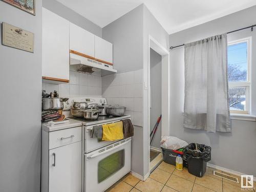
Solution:
[(150, 101), (151, 101), (151, 84), (150, 84), (150, 49), (156, 51), (162, 56), (161, 70), (162, 70), (162, 81), (161, 81), (161, 136), (169, 135), (169, 125), (170, 125), (170, 76), (169, 76), (169, 51), (165, 49), (154, 37), (148, 35), (148, 174), (150, 173)]

